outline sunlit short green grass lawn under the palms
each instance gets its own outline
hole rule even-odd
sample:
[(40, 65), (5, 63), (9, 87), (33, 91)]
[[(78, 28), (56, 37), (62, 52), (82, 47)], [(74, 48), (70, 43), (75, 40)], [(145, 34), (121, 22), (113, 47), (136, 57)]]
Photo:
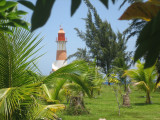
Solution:
[(145, 104), (146, 98), (143, 91), (133, 90), (130, 94), (131, 107), (121, 107), (121, 115), (118, 115), (118, 105), (111, 86), (103, 86), (100, 96), (97, 98), (85, 98), (85, 105), (90, 114), (70, 116), (59, 113), (62, 120), (160, 120), (160, 92), (151, 94), (153, 104)]

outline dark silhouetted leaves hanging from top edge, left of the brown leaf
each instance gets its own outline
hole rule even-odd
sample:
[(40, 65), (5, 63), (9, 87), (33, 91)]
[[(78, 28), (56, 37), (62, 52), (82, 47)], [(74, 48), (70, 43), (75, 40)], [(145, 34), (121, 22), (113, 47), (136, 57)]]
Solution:
[[(108, 8), (108, 1), (109, 0), (100, 0), (107, 8)], [(48, 20), (51, 14), (52, 7), (55, 3), (55, 0), (37, 0), (36, 5), (34, 6), (32, 2), (29, 0), (19, 0), (19, 3), (25, 5), (26, 7), (33, 10), (32, 20), (31, 20), (31, 30), (34, 31), (35, 29), (42, 27)], [(72, 0), (71, 2), (71, 16), (76, 12), (79, 8), (82, 0)], [(112, 3), (115, 3), (115, 0), (112, 0)]]

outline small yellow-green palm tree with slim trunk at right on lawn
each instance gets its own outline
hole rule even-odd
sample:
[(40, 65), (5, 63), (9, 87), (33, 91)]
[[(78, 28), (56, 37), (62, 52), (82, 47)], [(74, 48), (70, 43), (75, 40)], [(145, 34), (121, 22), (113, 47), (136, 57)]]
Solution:
[(136, 67), (137, 69), (126, 70), (124, 75), (130, 77), (135, 82), (134, 85), (146, 92), (146, 103), (151, 104), (150, 94), (156, 86), (154, 80), (157, 77), (155, 65), (144, 69), (144, 63), (141, 63), (139, 60)]

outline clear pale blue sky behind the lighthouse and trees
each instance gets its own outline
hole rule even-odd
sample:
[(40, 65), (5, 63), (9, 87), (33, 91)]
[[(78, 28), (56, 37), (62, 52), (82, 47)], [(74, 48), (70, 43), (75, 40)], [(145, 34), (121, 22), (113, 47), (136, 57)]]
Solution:
[[(107, 20), (111, 24), (114, 32), (123, 32), (129, 26), (129, 21), (118, 20), (129, 4), (125, 4), (119, 10), (119, 6), (122, 2), (121, 0), (118, 0), (114, 5), (111, 3), (111, 0), (109, 0), (109, 9), (106, 9), (106, 7), (99, 0), (90, 1), (96, 8), (100, 18), (102, 20)], [(56, 0), (47, 23), (43, 27), (35, 30), (36, 34), (41, 33), (41, 36), (44, 36), (44, 39), (40, 44), (43, 48), (39, 51), (39, 54), (45, 54), (38, 60), (38, 67), (44, 75), (49, 75), (52, 70), (52, 63), (56, 60), (57, 43), (55, 41), (58, 37), (60, 26), (65, 31), (65, 36), (68, 41), (66, 45), (67, 56), (75, 53), (77, 48), (86, 47), (85, 42), (77, 36), (74, 28), (78, 28), (79, 30), (85, 32), (85, 21), (82, 20), (82, 18), (86, 18), (88, 8), (85, 3), (82, 2), (75, 14), (71, 17), (70, 7), (71, 0)], [(28, 12), (25, 19), (30, 22), (32, 11), (22, 5), (19, 5), (18, 8)], [(135, 40), (136, 38), (134, 37), (128, 41), (127, 51), (135, 50)], [(72, 60), (73, 59), (69, 60), (68, 63), (71, 63)]]

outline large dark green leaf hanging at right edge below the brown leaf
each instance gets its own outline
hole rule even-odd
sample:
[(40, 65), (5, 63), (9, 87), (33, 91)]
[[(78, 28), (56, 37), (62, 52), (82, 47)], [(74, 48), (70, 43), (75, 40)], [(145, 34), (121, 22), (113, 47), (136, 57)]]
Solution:
[(145, 68), (155, 64), (160, 54), (160, 12), (158, 15), (148, 22), (142, 29), (137, 39), (137, 49), (135, 51), (134, 60), (137, 61), (141, 57), (145, 57)]

